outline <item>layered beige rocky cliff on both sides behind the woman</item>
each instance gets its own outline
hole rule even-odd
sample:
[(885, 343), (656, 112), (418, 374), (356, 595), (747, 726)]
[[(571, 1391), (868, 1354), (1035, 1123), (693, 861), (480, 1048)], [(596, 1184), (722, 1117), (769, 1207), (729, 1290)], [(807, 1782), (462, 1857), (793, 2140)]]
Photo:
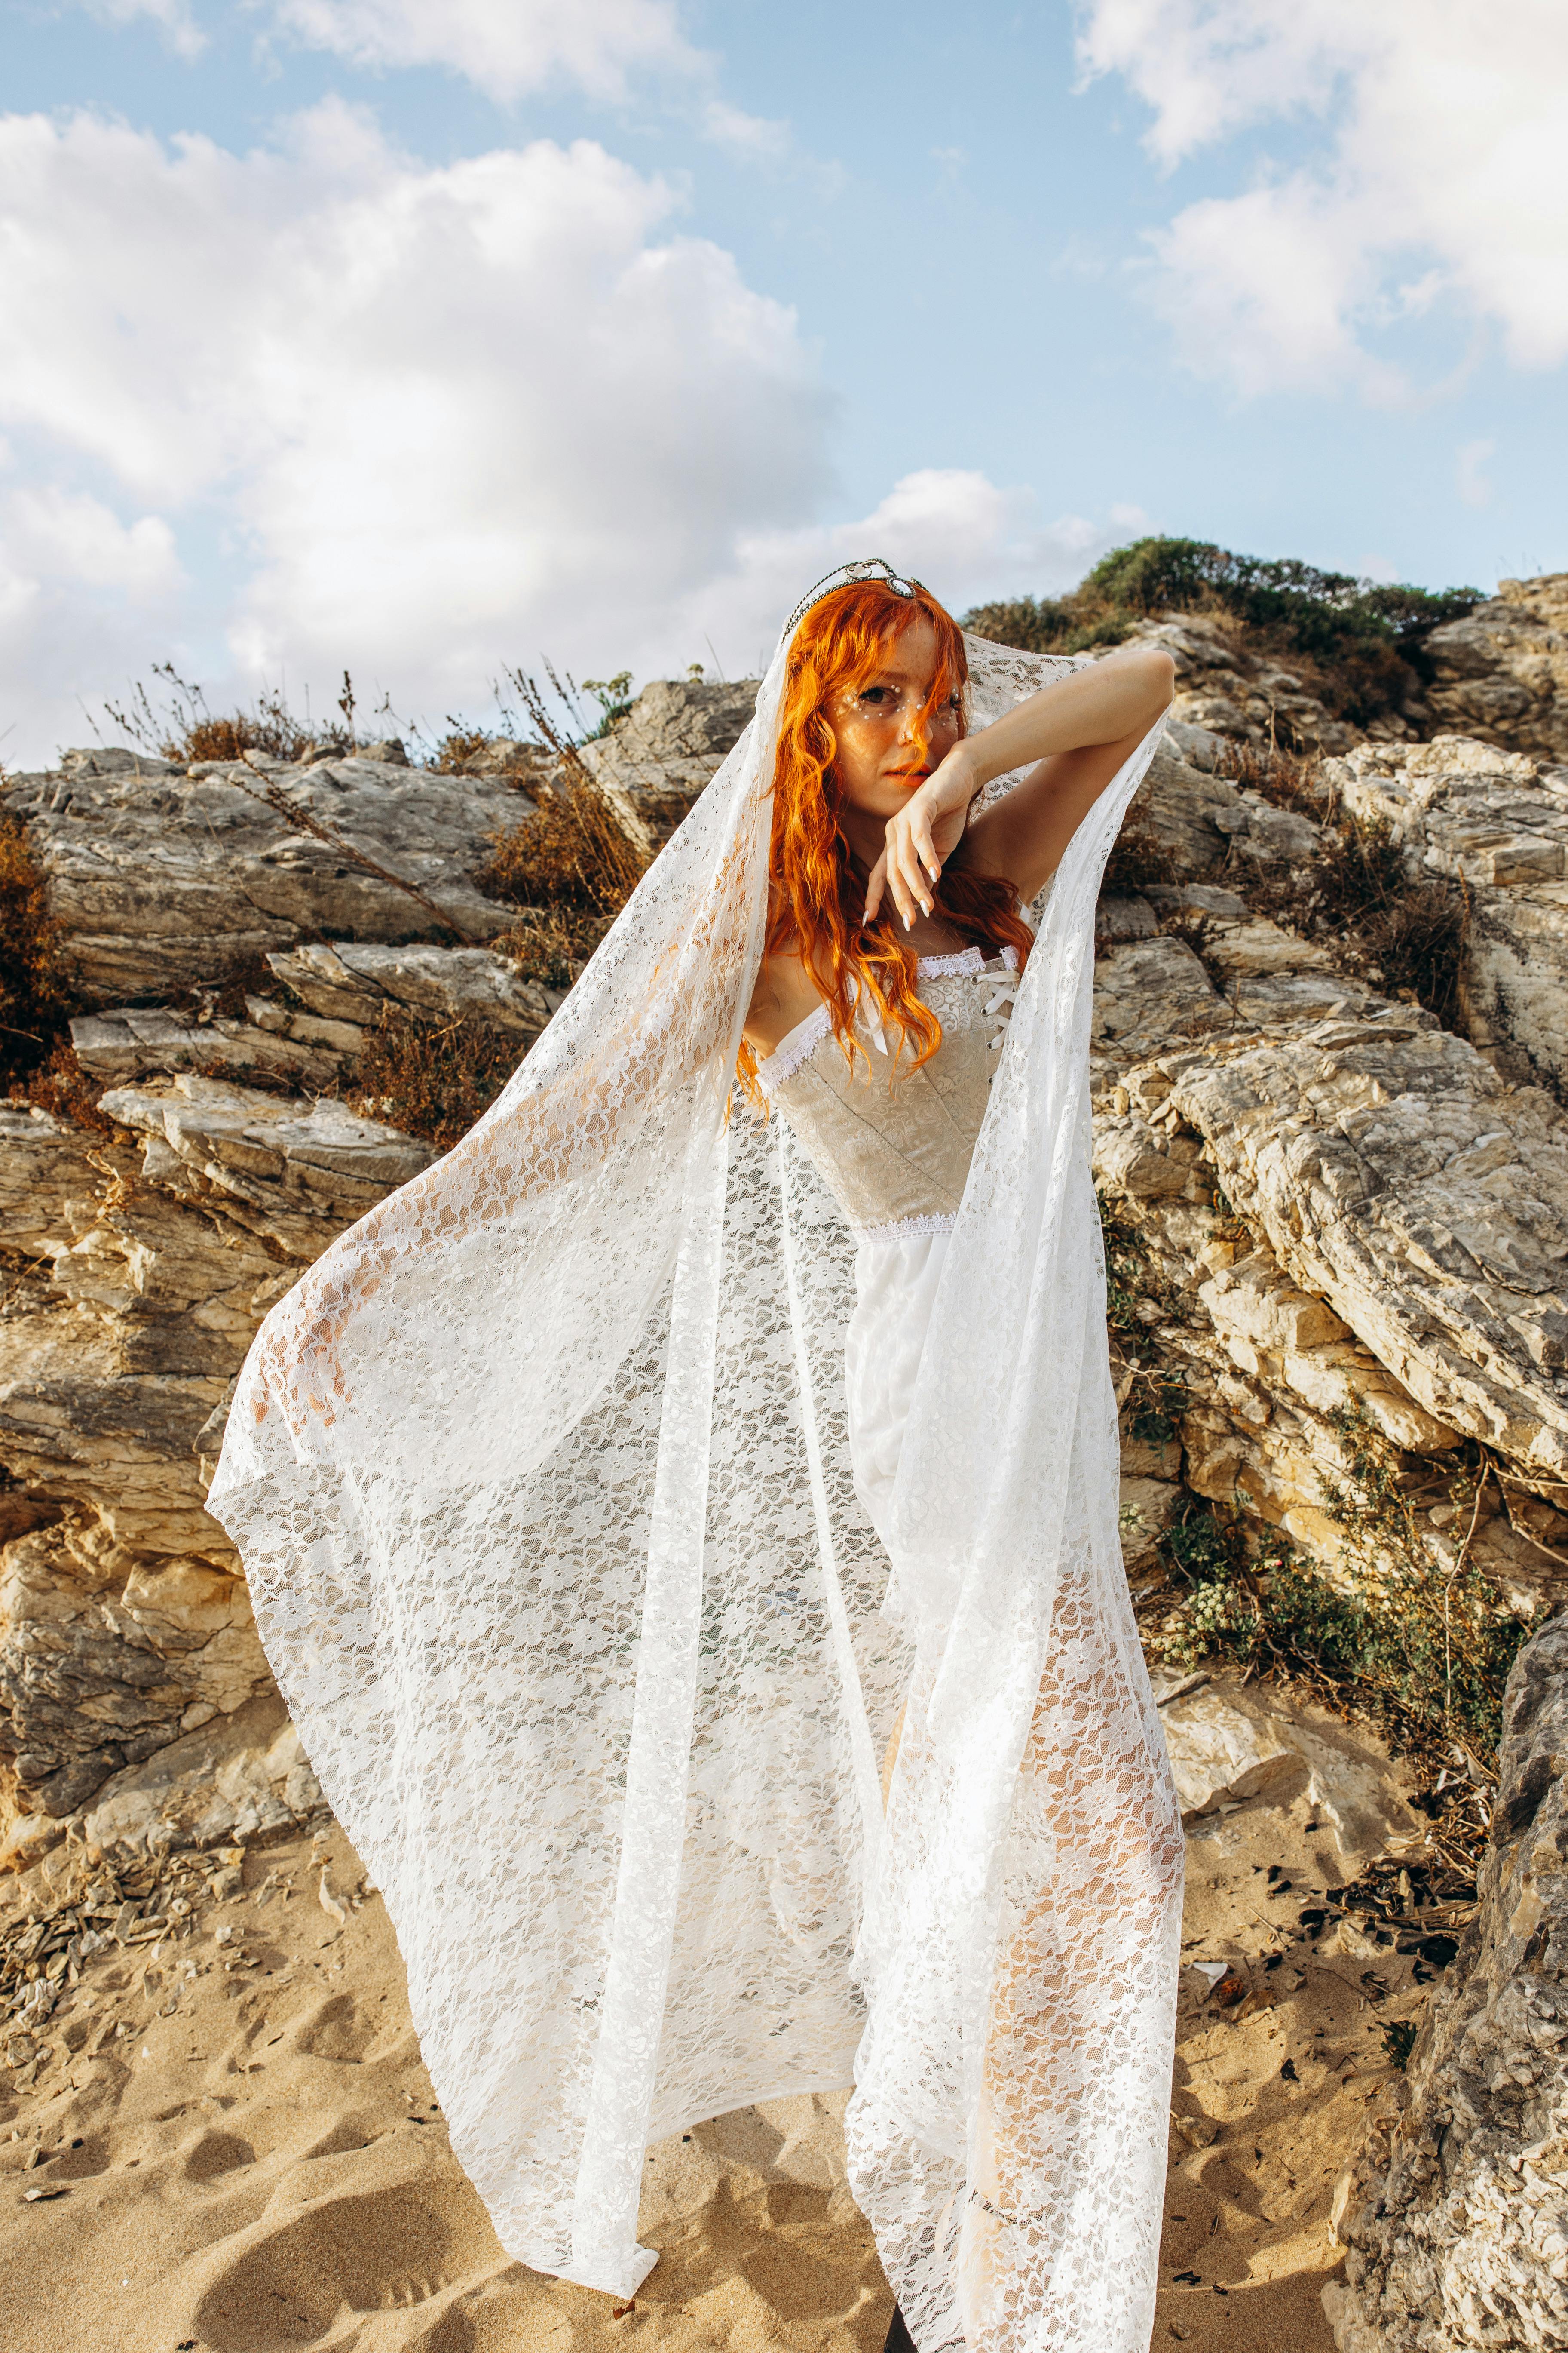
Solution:
[[(1279, 1631), (1286, 1591), (1309, 1595), (1319, 1633), (1338, 1607), (1371, 1609), (1368, 1624), (1410, 1609), (1420, 1659), (1403, 1685), (1387, 1640), (1373, 1661), (1385, 1727), (1415, 1737), (1425, 1706), (1427, 1753), (1448, 1739), (1432, 1835), (1458, 1852), (1490, 1802), (1462, 1678), (1479, 1661), (1481, 1682), (1500, 1682), (1521, 1631), (1568, 1602), (1563, 579), (1505, 584), (1434, 631), (1418, 689), (1371, 732), (1222, 616), (1140, 628), (1175, 654), (1178, 711), (1100, 906), (1093, 1014), (1140, 1621), (1171, 1682), (1215, 1649), (1302, 1666), (1300, 1626), (1288, 1657)], [(701, 793), (750, 692), (661, 682), (585, 746), (588, 786), (637, 854)], [(1316, 758), (1281, 788), (1272, 748), (1286, 732)], [(299, 767), (66, 753), (49, 774), (7, 779), (78, 1005), (71, 1085), (0, 1111), (0, 1809), (14, 1864), (63, 1835), (115, 1852), (214, 1845), (320, 1802), (240, 1565), (202, 1511), (202, 1473), (266, 1308), (435, 1151), (402, 1096), (364, 1075), (388, 1024), (428, 1054), (458, 1031), (484, 1035), (501, 1071), (559, 1002), (517, 948), (494, 859), (496, 835), (527, 828), (550, 791), (541, 758), (435, 774), (395, 746)], [(1399, 979), (1387, 922), (1352, 939), (1324, 913), (1324, 875), (1368, 842), (1380, 887), (1458, 911), (1439, 1009)], [(1335, 1640), (1347, 1624), (1333, 1621)], [(1554, 1640), (1523, 1654), (1533, 1692), (1556, 1687)], [(1345, 1657), (1342, 1675), (1359, 1673)], [(1526, 1838), (1521, 1791), (1547, 1772), (1552, 1706), (1528, 1729), (1509, 1699), (1495, 1807), (1516, 1824), (1507, 1857), (1535, 1840), (1530, 1885), (1544, 1833)], [(1211, 1699), (1173, 1687), (1166, 1720), (1197, 1812), (1251, 1786), (1255, 1762), (1241, 1718), (1208, 1715)], [(1215, 1741), (1246, 1758), (1213, 1765)], [(1526, 1866), (1507, 1857), (1497, 1845), (1488, 1864), (1502, 1892), (1486, 1894), (1474, 1944), (1490, 1958), (1455, 1965), (1443, 2000), (1453, 2009), (1453, 1988), (1474, 1984), (1465, 2017), (1481, 2002), (1493, 2021), (1514, 2002), (1519, 2035), (1547, 2052), (1537, 1993), (1509, 1991), (1528, 1977), (1528, 1937), (1509, 1944), (1500, 1906), (1514, 1922), (1535, 1899), (1509, 1892)], [(1432, 2026), (1408, 2078), (1410, 2148), (1434, 2132), (1455, 2146), (1453, 2120), (1432, 2125), (1460, 2097), (1462, 2038), (1443, 2033)], [(1516, 2040), (1493, 2073), (1514, 2066)], [(1535, 2134), (1535, 2181), (1561, 2174), (1540, 2125), (1554, 2049), (1535, 2108), (1514, 2118), (1519, 2148)], [(1476, 2132), (1502, 2129), (1497, 2097)], [(1486, 2198), (1523, 2198), (1514, 2144), (1486, 2148), (1443, 2191), (1458, 2238), (1474, 2240)], [(1345, 2195), (1356, 2261), (1342, 2344), (1359, 2346), (1356, 2329), (1422, 2353), (1563, 2341), (1474, 2334), (1481, 2289), (1467, 2285), (1441, 2322), (1422, 2318), (1427, 2334), (1399, 2334), (1399, 2299), (1427, 2278), (1410, 2249), (1436, 2226), (1425, 2160), (1387, 2151)], [(1509, 2247), (1516, 2301), (1556, 2313), (1547, 2224), (1521, 2221)]]

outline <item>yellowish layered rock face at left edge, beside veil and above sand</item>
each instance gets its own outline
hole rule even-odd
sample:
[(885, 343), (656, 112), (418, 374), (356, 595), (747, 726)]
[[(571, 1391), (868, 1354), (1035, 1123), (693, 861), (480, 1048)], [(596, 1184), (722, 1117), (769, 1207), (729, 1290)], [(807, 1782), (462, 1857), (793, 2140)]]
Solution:
[[(270, 1692), (197, 1442), (299, 1268), (433, 1158), (341, 1104), (202, 1078), (103, 1104), (141, 1155), (0, 1111), (0, 1457), (47, 1520), (0, 1553), (0, 1765), (47, 1819)], [(136, 1784), (141, 1812), (162, 1786)]]

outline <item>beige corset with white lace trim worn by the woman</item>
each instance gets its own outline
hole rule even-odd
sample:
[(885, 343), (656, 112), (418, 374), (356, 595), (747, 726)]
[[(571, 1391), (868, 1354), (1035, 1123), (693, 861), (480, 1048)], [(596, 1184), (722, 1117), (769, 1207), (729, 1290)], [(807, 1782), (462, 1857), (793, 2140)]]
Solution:
[(870, 1238), (945, 1233), (973, 1158), (987, 1089), (1018, 993), (1018, 955), (922, 955), (919, 995), (943, 1042), (914, 1068), (882, 1026), (860, 1021), (853, 1066), (818, 1005), (757, 1064), (757, 1082), (788, 1118), (849, 1224)]

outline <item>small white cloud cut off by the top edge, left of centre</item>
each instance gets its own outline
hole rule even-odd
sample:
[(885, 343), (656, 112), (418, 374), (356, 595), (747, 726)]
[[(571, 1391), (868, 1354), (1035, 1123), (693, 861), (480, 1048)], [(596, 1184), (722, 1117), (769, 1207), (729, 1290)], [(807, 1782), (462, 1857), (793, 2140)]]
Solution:
[(618, 99), (632, 71), (701, 71), (675, 0), (275, 0), (273, 14), (355, 66), (449, 66), (508, 101), (555, 80)]

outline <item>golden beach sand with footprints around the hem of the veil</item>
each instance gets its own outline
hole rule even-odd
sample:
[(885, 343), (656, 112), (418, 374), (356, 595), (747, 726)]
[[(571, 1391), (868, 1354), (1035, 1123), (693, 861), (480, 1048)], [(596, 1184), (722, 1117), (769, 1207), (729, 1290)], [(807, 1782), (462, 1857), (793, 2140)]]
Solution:
[[(12, 1880), (0, 1922), (63, 1871), (56, 1849)], [(1333, 2348), (1333, 2188), (1389, 2075), (1382, 2028), (1422, 1998), (1408, 1960), (1298, 1929), (1342, 1875), (1305, 1798), (1190, 1838), (1187, 1960), (1234, 1974), (1215, 1995), (1182, 1972), (1154, 2346)], [(252, 1849), (219, 1887), (197, 1882), (176, 1934), (85, 1960), (38, 2071), (0, 2066), (5, 2353), (877, 2353), (891, 2299), (844, 2186), (842, 2099), (651, 2151), (639, 2235), (661, 2261), (635, 2304), (562, 2287), (501, 2254), (451, 2158), (341, 1831)]]

